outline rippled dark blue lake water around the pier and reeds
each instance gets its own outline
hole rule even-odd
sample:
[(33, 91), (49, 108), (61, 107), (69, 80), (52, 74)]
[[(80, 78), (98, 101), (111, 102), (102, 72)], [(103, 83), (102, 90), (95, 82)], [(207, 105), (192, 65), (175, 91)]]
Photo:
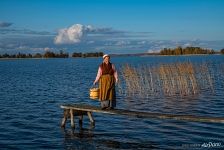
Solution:
[[(122, 64), (210, 62), (214, 93), (186, 98), (133, 99), (117, 93), (117, 108), (170, 114), (224, 116), (224, 56), (114, 57)], [(101, 58), (0, 60), (0, 149), (204, 149), (224, 148), (224, 124), (141, 119), (94, 113), (95, 128), (60, 128), (64, 103), (89, 99)], [(214, 67), (215, 68), (215, 67)], [(208, 147), (207, 147), (208, 149)]]

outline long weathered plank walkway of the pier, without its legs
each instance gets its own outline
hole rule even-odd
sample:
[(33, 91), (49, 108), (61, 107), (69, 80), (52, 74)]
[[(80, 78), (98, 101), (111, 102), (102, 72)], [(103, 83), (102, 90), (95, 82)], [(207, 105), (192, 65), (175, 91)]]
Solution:
[(187, 121), (196, 121), (196, 122), (224, 123), (224, 117), (162, 114), (162, 113), (130, 111), (130, 110), (124, 110), (124, 109), (102, 110), (100, 107), (90, 106), (86, 104), (65, 104), (65, 105), (61, 105), (61, 108), (80, 110), (85, 112), (98, 112), (98, 113), (111, 114), (111, 115), (127, 115), (127, 116), (132, 116), (137, 118), (175, 119), (175, 120), (187, 120)]

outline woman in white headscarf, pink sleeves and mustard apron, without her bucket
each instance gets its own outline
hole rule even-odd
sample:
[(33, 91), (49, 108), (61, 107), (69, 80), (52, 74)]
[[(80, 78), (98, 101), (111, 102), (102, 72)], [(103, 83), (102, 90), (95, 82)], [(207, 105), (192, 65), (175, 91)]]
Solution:
[(99, 66), (94, 85), (99, 81), (99, 100), (102, 109), (113, 109), (116, 107), (115, 83), (118, 75), (114, 64), (110, 62), (108, 54), (103, 55), (103, 63)]

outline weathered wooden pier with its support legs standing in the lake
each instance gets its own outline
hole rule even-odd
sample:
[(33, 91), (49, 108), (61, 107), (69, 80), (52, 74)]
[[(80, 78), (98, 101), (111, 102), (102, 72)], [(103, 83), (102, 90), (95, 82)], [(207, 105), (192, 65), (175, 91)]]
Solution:
[(61, 126), (65, 127), (66, 120), (67, 118), (70, 117), (72, 128), (75, 127), (74, 116), (79, 116), (79, 123), (82, 123), (84, 115), (87, 115), (89, 117), (90, 123), (94, 126), (95, 121), (92, 116), (93, 112), (111, 114), (111, 115), (126, 115), (126, 116), (137, 117), (137, 118), (175, 119), (175, 120), (186, 120), (186, 121), (196, 121), (196, 122), (224, 123), (224, 117), (174, 115), (174, 114), (130, 111), (130, 110), (124, 110), (124, 109), (102, 110), (100, 107), (91, 106), (87, 104), (65, 104), (65, 105), (61, 105), (61, 108), (64, 109), (64, 116), (62, 118)]

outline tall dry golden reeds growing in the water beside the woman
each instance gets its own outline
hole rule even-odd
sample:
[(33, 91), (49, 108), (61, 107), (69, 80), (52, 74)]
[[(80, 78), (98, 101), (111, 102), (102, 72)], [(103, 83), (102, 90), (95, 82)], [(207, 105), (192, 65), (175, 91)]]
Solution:
[(127, 96), (189, 96), (214, 93), (214, 76), (208, 63), (178, 62), (154, 66), (125, 64), (120, 70), (119, 92)]

